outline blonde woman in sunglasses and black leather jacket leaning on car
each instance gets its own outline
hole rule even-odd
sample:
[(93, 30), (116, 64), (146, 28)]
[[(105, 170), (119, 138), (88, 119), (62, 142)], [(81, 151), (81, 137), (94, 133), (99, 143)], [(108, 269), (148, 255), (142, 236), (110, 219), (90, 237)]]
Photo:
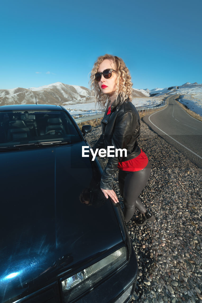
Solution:
[(135, 223), (138, 226), (145, 225), (146, 221), (154, 221), (155, 217), (147, 211), (138, 196), (149, 179), (151, 166), (137, 144), (140, 117), (131, 102), (133, 84), (130, 72), (121, 58), (106, 54), (97, 59), (90, 78), (96, 103), (106, 107), (101, 122), (102, 135), (93, 146), (93, 151), (107, 146), (127, 150), (127, 156), (119, 151), (118, 156), (108, 158), (100, 188), (106, 198), (109, 195), (115, 203), (119, 202), (112, 188), (113, 174), (119, 168), (119, 189), (125, 206), (123, 214), (126, 223), (137, 208), (139, 216)]

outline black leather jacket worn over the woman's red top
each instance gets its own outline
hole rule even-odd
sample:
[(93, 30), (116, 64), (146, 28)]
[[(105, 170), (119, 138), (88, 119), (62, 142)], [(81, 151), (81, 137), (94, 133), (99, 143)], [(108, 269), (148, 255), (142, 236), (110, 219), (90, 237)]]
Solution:
[[(101, 121), (102, 135), (93, 146), (96, 148), (126, 148), (127, 157), (118, 156), (109, 157), (108, 163), (103, 171), (100, 187), (103, 189), (112, 189), (113, 174), (117, 170), (118, 162), (131, 160), (140, 155), (140, 148), (137, 144), (137, 137), (140, 135), (140, 116), (129, 98), (120, 105), (120, 96), (117, 98), (117, 105), (113, 102), (111, 105), (111, 113), (107, 115), (106, 109), (104, 117)], [(111, 153), (113, 154), (113, 153)]]

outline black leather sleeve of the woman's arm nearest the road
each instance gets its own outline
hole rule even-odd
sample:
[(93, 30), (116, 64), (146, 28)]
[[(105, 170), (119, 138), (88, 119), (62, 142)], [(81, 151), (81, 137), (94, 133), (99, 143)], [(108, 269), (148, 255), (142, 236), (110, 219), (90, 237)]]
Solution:
[[(112, 136), (112, 146), (114, 148), (126, 148), (127, 143), (130, 141), (133, 131), (136, 126), (136, 117), (132, 112), (124, 112), (122, 115), (117, 117), (116, 124)], [(115, 151), (114, 151), (115, 154)], [(123, 153), (124, 155), (124, 153)], [(116, 172), (118, 167), (118, 162), (120, 162), (122, 157), (120, 152), (118, 156), (109, 157), (107, 165), (103, 171), (100, 187), (103, 189), (112, 189), (113, 174)]]

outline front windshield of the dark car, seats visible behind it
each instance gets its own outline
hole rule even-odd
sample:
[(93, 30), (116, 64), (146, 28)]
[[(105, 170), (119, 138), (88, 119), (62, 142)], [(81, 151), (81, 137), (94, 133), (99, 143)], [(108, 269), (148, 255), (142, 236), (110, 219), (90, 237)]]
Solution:
[(0, 112), (0, 147), (82, 141), (66, 112)]

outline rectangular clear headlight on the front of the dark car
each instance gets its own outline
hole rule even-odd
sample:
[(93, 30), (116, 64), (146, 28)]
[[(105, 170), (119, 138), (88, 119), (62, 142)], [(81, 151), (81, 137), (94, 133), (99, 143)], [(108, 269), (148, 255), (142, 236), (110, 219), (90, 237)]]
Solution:
[(127, 250), (124, 246), (99, 262), (62, 281), (62, 291), (65, 301), (71, 301), (92, 287), (126, 260)]

